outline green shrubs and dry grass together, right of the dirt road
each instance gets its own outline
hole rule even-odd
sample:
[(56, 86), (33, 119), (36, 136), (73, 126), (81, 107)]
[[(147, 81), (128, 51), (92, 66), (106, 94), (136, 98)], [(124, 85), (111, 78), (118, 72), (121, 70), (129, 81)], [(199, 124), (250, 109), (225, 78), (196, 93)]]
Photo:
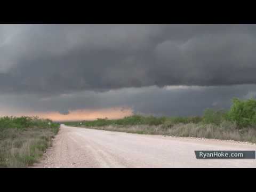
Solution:
[(153, 117), (68, 122), (69, 126), (140, 134), (163, 134), (256, 143), (256, 100), (233, 99), (230, 110), (206, 109), (203, 116)]

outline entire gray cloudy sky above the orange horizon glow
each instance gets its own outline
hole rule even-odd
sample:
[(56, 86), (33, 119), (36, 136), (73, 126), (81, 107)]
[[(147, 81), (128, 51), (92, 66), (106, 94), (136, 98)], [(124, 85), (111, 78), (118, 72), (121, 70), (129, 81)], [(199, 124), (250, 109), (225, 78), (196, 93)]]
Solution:
[(0, 115), (201, 115), (255, 97), (255, 53), (255, 25), (0, 25)]

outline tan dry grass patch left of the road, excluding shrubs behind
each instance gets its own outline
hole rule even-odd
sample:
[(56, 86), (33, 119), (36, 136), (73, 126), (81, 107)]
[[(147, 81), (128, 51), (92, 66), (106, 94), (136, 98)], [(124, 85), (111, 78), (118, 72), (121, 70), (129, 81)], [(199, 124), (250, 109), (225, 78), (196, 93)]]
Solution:
[(0, 140), (0, 167), (27, 167), (37, 162), (55, 133), (52, 129), (5, 129)]

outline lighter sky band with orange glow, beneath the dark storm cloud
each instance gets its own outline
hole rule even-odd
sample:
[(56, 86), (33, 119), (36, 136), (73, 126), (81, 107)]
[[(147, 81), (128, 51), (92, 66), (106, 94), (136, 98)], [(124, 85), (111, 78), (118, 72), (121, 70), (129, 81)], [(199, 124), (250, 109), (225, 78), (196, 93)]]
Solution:
[[(96, 93), (73, 92), (39, 98), (36, 94), (2, 95), (0, 108), (7, 114), (41, 114), (57, 119), (74, 117), (74, 111), (86, 111), (83, 117), (105, 118), (116, 112), (156, 116), (202, 115), (206, 108), (228, 109), (231, 99), (255, 98), (256, 85), (233, 86), (157, 86), (126, 88)], [(66, 113), (65, 113), (66, 112)], [(68, 114), (67, 114), (68, 112)], [(111, 112), (111, 113), (110, 113)], [(48, 115), (46, 115), (48, 114)], [(58, 115), (57, 115), (58, 114)], [(101, 114), (101, 115), (100, 115)], [(111, 116), (114, 117), (114, 116)], [(50, 118), (50, 117), (49, 117)]]

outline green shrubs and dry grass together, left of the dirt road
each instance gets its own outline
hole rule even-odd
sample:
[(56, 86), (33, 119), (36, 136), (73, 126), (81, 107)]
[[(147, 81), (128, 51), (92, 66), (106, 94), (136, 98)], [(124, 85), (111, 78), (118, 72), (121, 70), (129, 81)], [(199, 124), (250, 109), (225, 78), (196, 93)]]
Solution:
[(0, 167), (27, 167), (37, 162), (59, 124), (38, 117), (0, 118)]

